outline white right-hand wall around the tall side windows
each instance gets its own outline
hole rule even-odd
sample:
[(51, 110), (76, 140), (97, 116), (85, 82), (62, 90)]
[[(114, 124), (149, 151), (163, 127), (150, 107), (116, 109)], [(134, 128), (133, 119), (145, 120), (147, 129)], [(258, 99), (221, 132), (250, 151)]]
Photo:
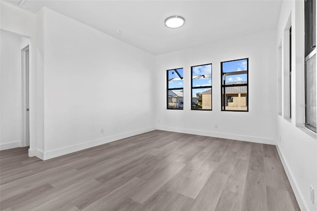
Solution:
[[(283, 2), (277, 26), (276, 51), (280, 42), (283, 43), (286, 39), (284, 31), (288, 30), (290, 25), (292, 25), (292, 119), (284, 118), (283, 116), (286, 115), (284, 111), (281, 115), (276, 115), (277, 140), (279, 140), (277, 149), (301, 210), (316, 211), (317, 140), (316, 134), (303, 126), (305, 122), (304, 1)], [(288, 61), (282, 60), (281, 66), (284, 62)], [(282, 69), (278, 67), (277, 70), (283, 77)], [(281, 81), (276, 80), (276, 82), (277, 86), (285, 86), (283, 89), (288, 86), (281, 85)], [(284, 102), (286, 103), (288, 102)], [(310, 185), (315, 188), (315, 205), (310, 200)]]

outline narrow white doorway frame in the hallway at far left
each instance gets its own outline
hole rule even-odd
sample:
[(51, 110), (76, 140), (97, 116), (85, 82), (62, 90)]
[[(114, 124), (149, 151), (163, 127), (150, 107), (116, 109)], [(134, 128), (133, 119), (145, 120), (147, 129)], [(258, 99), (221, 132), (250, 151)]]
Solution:
[(29, 73), (30, 73), (30, 50), (29, 45), (21, 50), (21, 82), (22, 82), (22, 130), (21, 130), (21, 147), (30, 146), (30, 100), (29, 100)]

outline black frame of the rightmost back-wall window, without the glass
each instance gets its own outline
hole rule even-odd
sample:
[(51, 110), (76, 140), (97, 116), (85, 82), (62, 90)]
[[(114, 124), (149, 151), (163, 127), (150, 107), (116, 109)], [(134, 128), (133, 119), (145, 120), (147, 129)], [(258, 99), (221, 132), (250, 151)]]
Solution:
[[(247, 59), (247, 69), (242, 70), (242, 71), (247, 71), (247, 83), (246, 84), (232, 84), (232, 85), (225, 85), (223, 84), (223, 69), (222, 69), (222, 64), (230, 61), (239, 61), (239, 60), (245, 60)], [(245, 74), (245, 73), (243, 73)], [(228, 60), (228, 61), (221, 61), (220, 62), (220, 84), (221, 84), (221, 89), (220, 89), (220, 101), (221, 101), (221, 111), (237, 111), (237, 112), (249, 112), (249, 58), (240, 58), (240, 59), (234, 59), (234, 60)], [(226, 110), (226, 98), (225, 98), (225, 88), (226, 87), (242, 87), (242, 86), (247, 86), (247, 94), (246, 94), (246, 106), (247, 110)], [(224, 92), (223, 92), (223, 91)], [(223, 93), (222, 93), (223, 92)], [(223, 95), (223, 97), (222, 97)]]

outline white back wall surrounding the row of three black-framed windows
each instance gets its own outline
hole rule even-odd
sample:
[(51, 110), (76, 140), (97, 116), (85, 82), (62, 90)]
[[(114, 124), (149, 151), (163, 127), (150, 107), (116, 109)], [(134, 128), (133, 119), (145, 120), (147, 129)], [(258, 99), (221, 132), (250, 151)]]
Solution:
[[(157, 56), (157, 128), (275, 144), (275, 31)], [(220, 111), (220, 62), (249, 58), (249, 112)], [(191, 66), (212, 63), (212, 111), (191, 110)], [(166, 109), (166, 70), (184, 68), (184, 110)], [(159, 121), (159, 123), (158, 123)], [(218, 128), (215, 128), (215, 124)]]

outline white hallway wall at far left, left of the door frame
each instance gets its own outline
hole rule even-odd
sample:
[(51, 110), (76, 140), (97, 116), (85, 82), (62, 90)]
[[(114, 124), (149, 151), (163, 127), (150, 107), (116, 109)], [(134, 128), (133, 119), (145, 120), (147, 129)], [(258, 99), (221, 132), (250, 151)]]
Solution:
[(21, 146), (20, 36), (0, 30), (0, 150)]

